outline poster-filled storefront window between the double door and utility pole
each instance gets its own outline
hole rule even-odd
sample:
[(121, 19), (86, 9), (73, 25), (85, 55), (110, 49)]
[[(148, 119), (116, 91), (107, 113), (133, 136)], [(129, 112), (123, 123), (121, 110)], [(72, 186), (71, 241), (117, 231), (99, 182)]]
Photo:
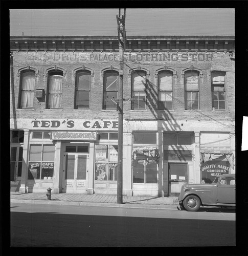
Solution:
[(96, 145), (95, 180), (117, 180), (118, 145)]

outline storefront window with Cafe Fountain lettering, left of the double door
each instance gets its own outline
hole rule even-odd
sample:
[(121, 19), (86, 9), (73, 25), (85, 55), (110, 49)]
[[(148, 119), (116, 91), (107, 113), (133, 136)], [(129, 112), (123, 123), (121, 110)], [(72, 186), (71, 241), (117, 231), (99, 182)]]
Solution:
[(53, 179), (55, 145), (30, 145), (28, 179)]

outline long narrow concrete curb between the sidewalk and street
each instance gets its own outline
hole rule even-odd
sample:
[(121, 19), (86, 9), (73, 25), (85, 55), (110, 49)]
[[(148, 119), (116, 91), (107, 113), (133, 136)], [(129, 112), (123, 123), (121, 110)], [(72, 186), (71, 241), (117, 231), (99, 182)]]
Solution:
[(24, 200), (11, 199), (11, 203), (27, 204), (47, 204), (47, 205), (73, 205), (73, 206), (98, 206), (98, 207), (117, 207), (117, 208), (139, 208), (139, 209), (165, 209), (177, 210), (177, 204), (173, 205), (150, 205), (150, 204), (116, 204), (116, 203), (94, 203), (94, 202), (75, 202), (75, 201), (52, 201), (52, 200)]

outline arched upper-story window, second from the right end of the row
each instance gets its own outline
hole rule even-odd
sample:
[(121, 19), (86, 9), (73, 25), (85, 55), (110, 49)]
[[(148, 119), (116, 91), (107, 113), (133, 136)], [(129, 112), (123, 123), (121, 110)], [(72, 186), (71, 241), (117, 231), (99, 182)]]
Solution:
[(185, 72), (185, 109), (199, 109), (199, 72)]

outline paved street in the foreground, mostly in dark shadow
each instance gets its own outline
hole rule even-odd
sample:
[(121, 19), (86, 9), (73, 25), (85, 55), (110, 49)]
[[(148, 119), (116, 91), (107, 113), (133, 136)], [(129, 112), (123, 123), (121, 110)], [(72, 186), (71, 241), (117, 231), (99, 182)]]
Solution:
[(233, 210), (11, 203), (12, 247), (234, 246)]

